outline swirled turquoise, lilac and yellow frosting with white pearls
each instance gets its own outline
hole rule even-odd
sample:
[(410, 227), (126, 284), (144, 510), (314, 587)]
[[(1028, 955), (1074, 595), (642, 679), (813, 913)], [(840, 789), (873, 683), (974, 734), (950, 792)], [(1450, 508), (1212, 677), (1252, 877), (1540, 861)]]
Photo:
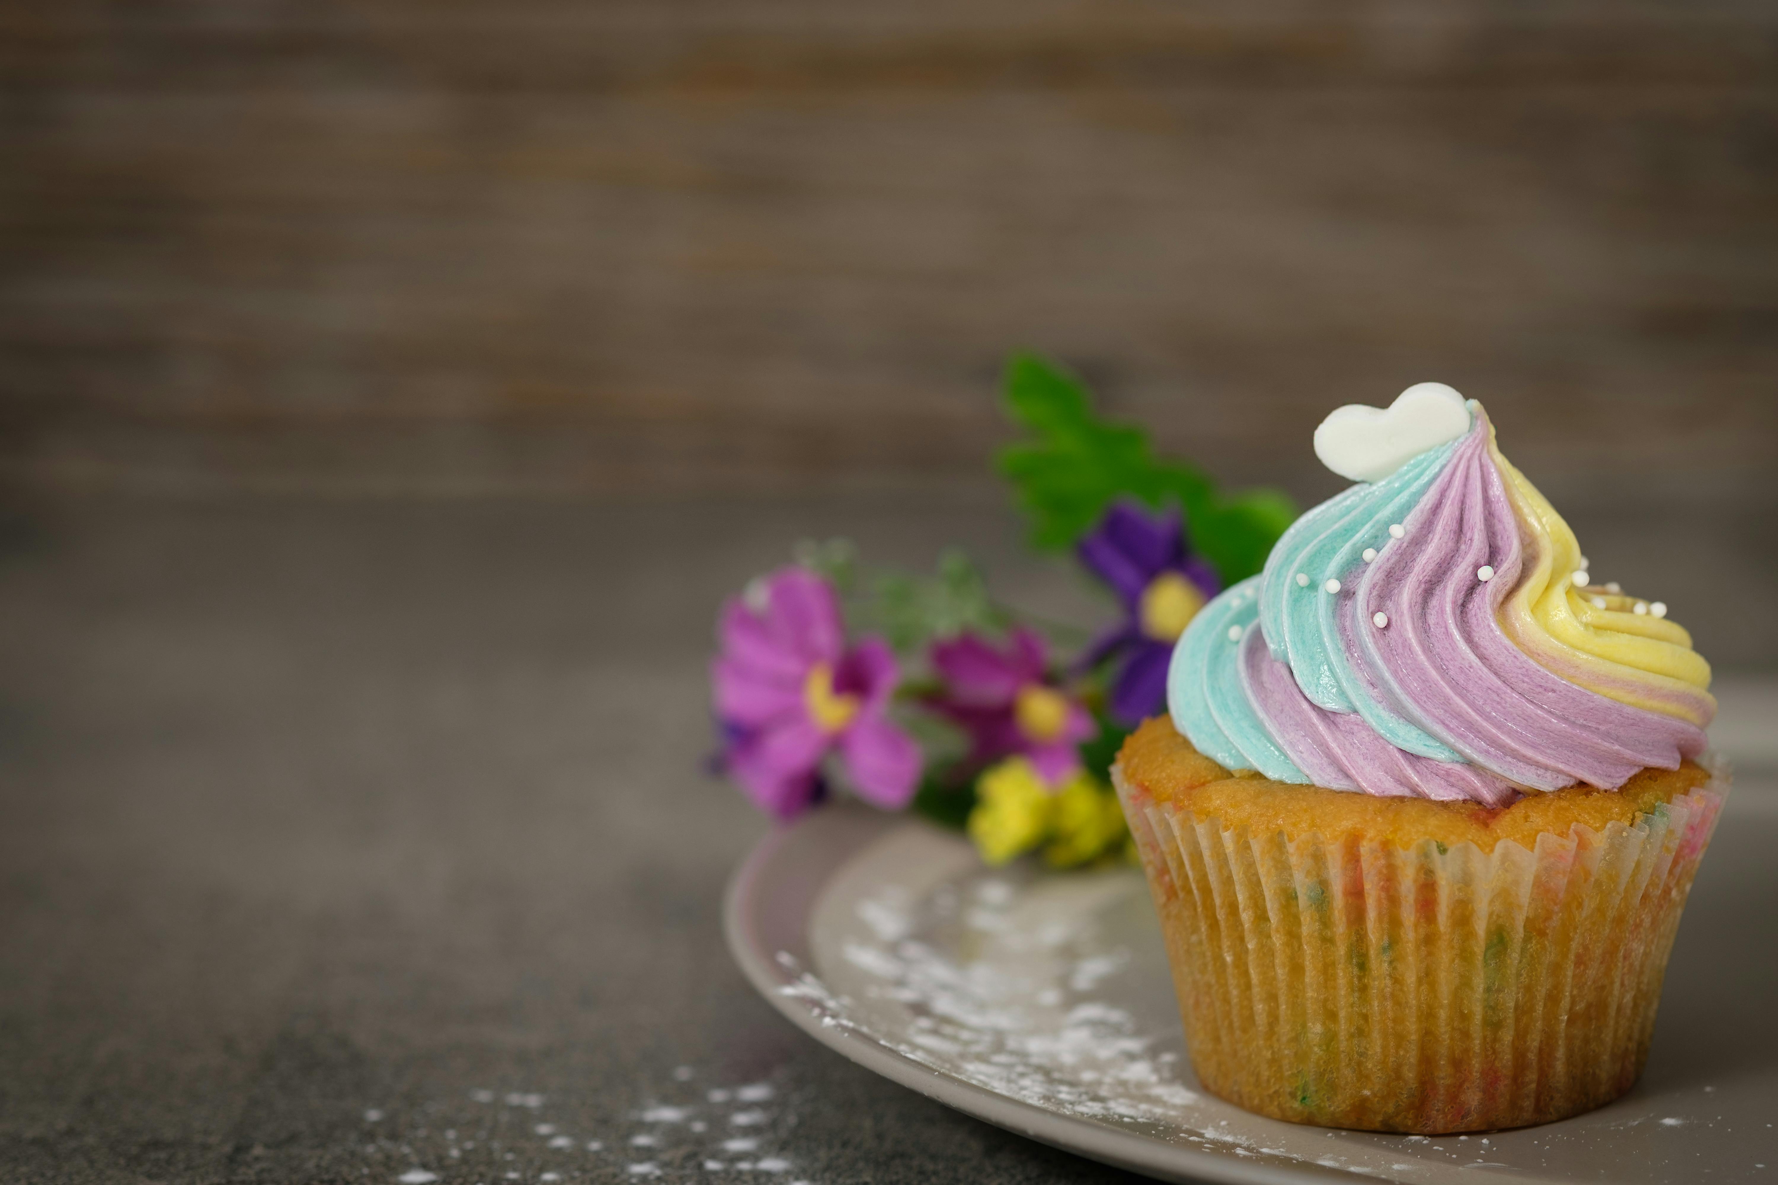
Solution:
[(1691, 636), (1581, 585), (1574, 531), (1465, 407), (1463, 435), (1305, 513), (1193, 618), (1168, 709), (1198, 752), (1278, 782), (1488, 805), (1616, 789), (1703, 752), (1716, 700)]

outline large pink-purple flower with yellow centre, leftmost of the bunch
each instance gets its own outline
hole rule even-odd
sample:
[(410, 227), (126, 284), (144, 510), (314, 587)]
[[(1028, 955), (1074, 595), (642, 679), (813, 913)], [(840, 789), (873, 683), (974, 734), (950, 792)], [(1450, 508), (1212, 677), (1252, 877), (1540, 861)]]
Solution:
[(914, 796), (919, 746), (887, 716), (894, 654), (880, 638), (846, 648), (839, 600), (813, 572), (784, 569), (724, 606), (709, 677), (722, 764), (775, 815), (814, 803), (836, 748), (862, 798), (898, 810)]

